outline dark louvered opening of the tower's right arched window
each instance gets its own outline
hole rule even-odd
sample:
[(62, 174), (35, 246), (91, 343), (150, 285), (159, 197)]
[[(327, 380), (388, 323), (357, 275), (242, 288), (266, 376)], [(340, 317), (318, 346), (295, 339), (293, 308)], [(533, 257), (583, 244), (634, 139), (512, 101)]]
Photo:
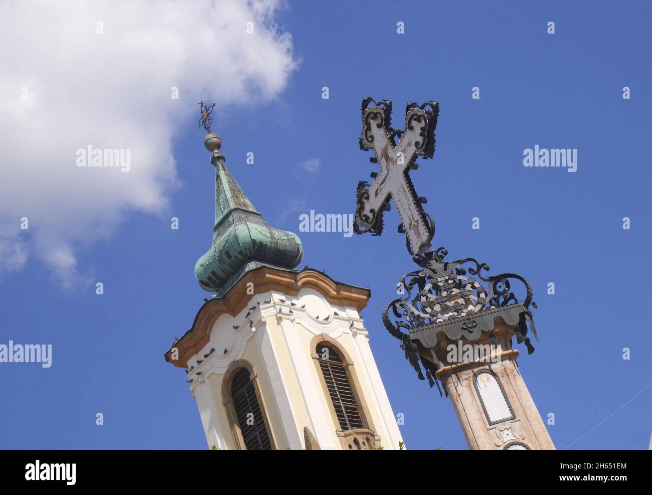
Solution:
[(332, 346), (319, 344), (316, 348), (319, 369), (326, 383), (335, 415), (342, 431), (365, 428), (351, 382), (340, 355)]

